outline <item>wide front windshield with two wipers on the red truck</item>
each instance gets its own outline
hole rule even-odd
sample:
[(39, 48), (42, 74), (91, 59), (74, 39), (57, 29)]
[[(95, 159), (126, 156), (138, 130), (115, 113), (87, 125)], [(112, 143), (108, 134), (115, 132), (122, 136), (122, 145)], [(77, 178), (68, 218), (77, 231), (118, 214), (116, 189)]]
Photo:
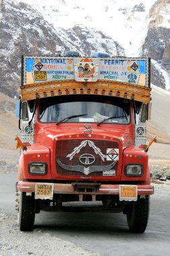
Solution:
[(130, 101), (95, 95), (42, 98), (39, 120), (42, 123), (101, 123), (105, 120), (103, 125), (127, 124), (130, 122)]

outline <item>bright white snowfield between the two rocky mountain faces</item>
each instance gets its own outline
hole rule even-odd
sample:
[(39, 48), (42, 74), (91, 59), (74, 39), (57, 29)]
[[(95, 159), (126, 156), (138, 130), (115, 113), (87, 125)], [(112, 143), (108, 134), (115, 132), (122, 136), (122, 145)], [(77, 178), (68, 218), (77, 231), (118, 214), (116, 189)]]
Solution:
[(58, 27), (69, 30), (79, 25), (94, 28), (119, 42), (130, 57), (139, 54), (151, 20), (149, 9), (154, 3), (155, 0), (48, 0), (48, 4), (44, 0), (29, 1), (56, 31)]

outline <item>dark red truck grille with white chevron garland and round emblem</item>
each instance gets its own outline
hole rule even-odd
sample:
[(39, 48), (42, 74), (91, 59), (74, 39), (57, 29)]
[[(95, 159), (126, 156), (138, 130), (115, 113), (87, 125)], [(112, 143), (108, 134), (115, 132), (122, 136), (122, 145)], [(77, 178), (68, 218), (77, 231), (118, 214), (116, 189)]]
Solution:
[[(108, 167), (109, 166), (109, 167)], [(118, 142), (99, 139), (56, 141), (56, 172), (62, 175), (103, 176), (118, 168)]]

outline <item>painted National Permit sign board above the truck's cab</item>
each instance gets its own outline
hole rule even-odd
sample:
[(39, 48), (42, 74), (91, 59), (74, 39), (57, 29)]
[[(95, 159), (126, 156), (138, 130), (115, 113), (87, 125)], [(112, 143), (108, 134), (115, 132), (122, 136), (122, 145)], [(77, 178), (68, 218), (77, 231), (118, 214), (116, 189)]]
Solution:
[(126, 82), (150, 87), (149, 59), (24, 57), (22, 85), (63, 80)]

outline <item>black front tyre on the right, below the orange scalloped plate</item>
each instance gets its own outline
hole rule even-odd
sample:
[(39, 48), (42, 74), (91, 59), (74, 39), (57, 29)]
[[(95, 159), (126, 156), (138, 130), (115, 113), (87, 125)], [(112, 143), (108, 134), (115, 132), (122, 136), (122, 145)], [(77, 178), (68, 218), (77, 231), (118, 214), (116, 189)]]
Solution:
[(131, 232), (143, 233), (148, 223), (149, 196), (130, 202), (126, 213), (128, 227)]

